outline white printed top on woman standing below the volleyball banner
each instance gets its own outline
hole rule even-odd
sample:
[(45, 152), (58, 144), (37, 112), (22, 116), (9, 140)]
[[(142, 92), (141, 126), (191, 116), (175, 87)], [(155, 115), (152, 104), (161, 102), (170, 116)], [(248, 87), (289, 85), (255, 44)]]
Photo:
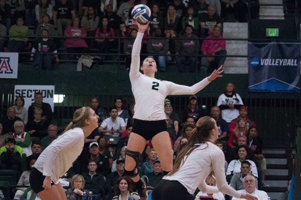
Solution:
[[(236, 98), (235, 98), (236, 96)], [(237, 101), (237, 99), (239, 101)], [(240, 95), (238, 95), (237, 93), (235, 95), (233, 95), (233, 97), (226, 97), (225, 94), (221, 94), (219, 95), (219, 99), (217, 100), (217, 106), (220, 105), (229, 105), (229, 104), (241, 104), (244, 105), (243, 100), (241, 100)], [(224, 109), (222, 110), (222, 118), (230, 123), (231, 120), (236, 119), (239, 115), (239, 112), (236, 108), (230, 110), (230, 109)]]

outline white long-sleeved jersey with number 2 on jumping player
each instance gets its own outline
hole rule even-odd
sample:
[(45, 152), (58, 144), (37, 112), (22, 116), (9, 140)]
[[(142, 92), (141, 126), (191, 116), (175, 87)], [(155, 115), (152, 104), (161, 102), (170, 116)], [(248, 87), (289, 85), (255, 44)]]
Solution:
[(193, 86), (178, 85), (147, 77), (139, 72), (140, 49), (143, 33), (138, 33), (132, 50), (130, 81), (135, 97), (135, 113), (133, 118), (147, 121), (164, 120), (164, 99), (167, 95), (192, 95), (199, 92), (210, 82), (204, 78)]

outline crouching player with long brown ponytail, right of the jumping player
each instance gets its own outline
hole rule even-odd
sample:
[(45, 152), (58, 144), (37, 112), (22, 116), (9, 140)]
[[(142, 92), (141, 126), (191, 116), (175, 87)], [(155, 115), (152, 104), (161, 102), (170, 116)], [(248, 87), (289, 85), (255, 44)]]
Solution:
[[(226, 182), (225, 156), (214, 144), (219, 137), (216, 121), (208, 116), (201, 117), (186, 146), (179, 153), (174, 167), (153, 189), (156, 200), (197, 200), (193, 196), (198, 187), (204, 193), (226, 193), (236, 198), (257, 200), (250, 194), (234, 190)], [(208, 186), (205, 179), (214, 171), (217, 187)]]

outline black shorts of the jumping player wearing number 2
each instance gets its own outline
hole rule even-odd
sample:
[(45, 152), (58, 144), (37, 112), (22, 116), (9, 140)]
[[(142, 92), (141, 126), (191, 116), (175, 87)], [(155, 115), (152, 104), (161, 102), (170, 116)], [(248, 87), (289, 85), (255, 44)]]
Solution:
[(163, 131), (167, 131), (165, 120), (146, 121), (134, 119), (132, 132), (144, 137), (146, 140), (152, 139)]

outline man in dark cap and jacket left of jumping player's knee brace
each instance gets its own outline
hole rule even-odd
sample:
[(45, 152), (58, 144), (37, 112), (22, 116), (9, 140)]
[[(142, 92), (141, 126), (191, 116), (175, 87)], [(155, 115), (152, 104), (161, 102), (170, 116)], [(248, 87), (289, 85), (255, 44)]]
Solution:
[(122, 176), (125, 176), (124, 174), (124, 159), (123, 158), (118, 158), (116, 160), (116, 169), (112, 173), (110, 173), (107, 176), (106, 182), (104, 184), (104, 189), (107, 194), (109, 194), (110, 199), (112, 199), (113, 194), (112, 194), (112, 189), (116, 185), (118, 179)]

